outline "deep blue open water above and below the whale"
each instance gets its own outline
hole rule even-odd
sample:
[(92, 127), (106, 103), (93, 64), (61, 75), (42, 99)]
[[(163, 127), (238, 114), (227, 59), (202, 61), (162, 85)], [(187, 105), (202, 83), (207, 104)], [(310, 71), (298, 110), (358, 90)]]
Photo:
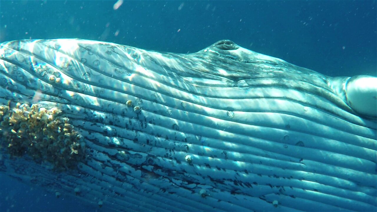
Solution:
[[(2, 0), (0, 42), (84, 38), (186, 53), (230, 39), (326, 75), (377, 75), (376, 1), (124, 1), (117, 10), (114, 3)], [(0, 186), (0, 211), (97, 209), (2, 173)]]

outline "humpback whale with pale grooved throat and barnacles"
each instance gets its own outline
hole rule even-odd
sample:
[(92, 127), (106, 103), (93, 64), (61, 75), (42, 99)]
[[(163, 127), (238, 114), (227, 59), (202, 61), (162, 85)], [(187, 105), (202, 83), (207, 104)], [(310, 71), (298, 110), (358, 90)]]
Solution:
[(0, 171), (102, 211), (375, 211), (376, 104), (376, 77), (230, 40), (9, 41)]

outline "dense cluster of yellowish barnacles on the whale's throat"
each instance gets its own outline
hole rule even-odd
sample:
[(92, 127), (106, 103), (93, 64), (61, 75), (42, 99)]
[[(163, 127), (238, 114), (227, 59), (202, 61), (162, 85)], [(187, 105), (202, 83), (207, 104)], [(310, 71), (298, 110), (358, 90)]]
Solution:
[(14, 156), (28, 154), (36, 162), (48, 161), (55, 170), (73, 169), (83, 160), (85, 143), (57, 108), (20, 104), (0, 105), (0, 145)]

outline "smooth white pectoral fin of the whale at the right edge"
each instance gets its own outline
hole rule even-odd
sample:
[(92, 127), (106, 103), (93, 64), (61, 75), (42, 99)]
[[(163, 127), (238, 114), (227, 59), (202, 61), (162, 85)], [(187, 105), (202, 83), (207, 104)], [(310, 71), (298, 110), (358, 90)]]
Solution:
[(377, 117), (377, 77), (351, 77), (345, 90), (347, 103), (354, 111), (368, 117)]

